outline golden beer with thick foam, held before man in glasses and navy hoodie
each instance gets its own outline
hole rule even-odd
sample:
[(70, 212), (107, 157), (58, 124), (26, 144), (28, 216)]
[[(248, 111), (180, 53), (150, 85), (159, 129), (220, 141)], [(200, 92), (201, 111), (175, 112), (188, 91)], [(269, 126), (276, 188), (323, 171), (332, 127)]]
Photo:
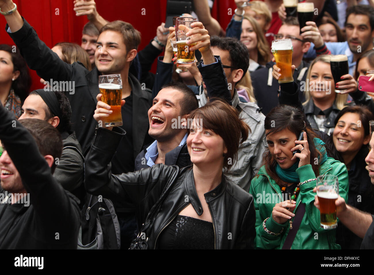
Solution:
[(292, 76), (292, 41), (291, 39), (273, 40), (272, 42), (272, 53), (275, 58), (277, 67), (281, 69), (281, 77), (278, 79), (278, 83), (292, 82), (294, 77)]

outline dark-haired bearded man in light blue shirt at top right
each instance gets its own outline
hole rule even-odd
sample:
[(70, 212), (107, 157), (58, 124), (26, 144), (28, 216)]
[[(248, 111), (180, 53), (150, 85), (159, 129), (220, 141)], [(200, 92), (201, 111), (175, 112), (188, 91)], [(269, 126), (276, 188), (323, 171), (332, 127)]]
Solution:
[(305, 58), (315, 58), (320, 54), (345, 54), (348, 56), (349, 74), (353, 76), (356, 60), (364, 53), (373, 49), (374, 39), (374, 8), (369, 5), (356, 5), (347, 9), (345, 30), (347, 41), (324, 43), (315, 22), (308, 23), (301, 36), (313, 42)]

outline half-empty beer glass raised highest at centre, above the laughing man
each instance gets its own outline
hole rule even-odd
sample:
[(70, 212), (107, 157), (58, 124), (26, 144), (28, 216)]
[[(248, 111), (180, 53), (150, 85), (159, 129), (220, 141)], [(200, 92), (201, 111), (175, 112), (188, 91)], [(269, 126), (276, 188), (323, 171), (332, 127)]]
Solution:
[[(175, 39), (177, 40), (177, 52), (178, 52), (178, 63), (190, 64), (195, 62), (195, 51), (190, 51), (192, 46), (195, 46), (196, 43), (187, 45), (187, 40), (190, 40), (192, 37), (186, 36), (189, 30), (191, 30), (191, 24), (197, 22), (196, 18), (192, 17), (178, 17), (177, 25), (175, 25)], [(181, 28), (180, 25), (185, 27)]]

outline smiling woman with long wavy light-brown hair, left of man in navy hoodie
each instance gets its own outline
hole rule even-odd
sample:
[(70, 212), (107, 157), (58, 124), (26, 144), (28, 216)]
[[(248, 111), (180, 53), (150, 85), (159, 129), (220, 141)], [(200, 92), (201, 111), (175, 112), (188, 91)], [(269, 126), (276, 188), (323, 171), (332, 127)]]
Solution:
[(266, 42), (260, 25), (258, 25), (257, 21), (252, 16), (243, 16), (240, 42), (248, 49), (250, 58), (249, 71), (262, 68), (270, 61), (269, 44)]

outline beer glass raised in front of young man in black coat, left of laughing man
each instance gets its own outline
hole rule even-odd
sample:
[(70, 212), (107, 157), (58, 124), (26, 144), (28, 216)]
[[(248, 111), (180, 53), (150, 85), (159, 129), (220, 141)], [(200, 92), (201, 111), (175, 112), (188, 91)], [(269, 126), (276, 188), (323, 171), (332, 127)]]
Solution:
[(121, 99), (122, 99), (122, 79), (120, 74), (107, 74), (99, 76), (99, 89), (102, 94), (102, 102), (110, 106), (113, 113), (103, 119), (103, 126), (121, 126)]

